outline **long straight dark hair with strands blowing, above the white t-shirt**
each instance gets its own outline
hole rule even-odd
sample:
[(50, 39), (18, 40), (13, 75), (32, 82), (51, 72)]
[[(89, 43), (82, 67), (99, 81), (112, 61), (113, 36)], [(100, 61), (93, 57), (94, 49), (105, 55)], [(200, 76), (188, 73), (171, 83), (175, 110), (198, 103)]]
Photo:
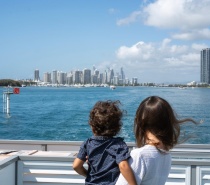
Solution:
[(134, 133), (138, 147), (146, 143), (146, 132), (155, 135), (169, 150), (178, 143), (180, 124), (193, 122), (193, 119), (177, 119), (171, 105), (158, 96), (146, 98), (139, 105), (134, 120)]

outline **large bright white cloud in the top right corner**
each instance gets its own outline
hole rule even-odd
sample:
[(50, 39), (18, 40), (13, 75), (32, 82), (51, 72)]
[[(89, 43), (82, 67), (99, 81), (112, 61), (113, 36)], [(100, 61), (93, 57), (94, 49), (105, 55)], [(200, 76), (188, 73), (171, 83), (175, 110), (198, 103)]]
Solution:
[(178, 40), (210, 39), (210, 0), (156, 0), (147, 1), (139, 11), (117, 21), (128, 25), (142, 19), (147, 26), (178, 31), (172, 35)]

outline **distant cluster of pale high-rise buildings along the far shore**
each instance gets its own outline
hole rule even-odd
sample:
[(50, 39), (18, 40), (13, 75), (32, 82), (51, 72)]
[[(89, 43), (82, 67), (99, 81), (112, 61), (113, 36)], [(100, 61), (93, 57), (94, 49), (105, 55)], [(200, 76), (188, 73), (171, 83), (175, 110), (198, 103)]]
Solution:
[(103, 71), (99, 71), (95, 66), (92, 70), (89, 68), (84, 68), (83, 70), (75, 70), (70, 72), (53, 70), (51, 72), (39, 73), (39, 69), (34, 70), (34, 78), (28, 79), (34, 82), (43, 84), (62, 84), (62, 85), (72, 85), (72, 84), (110, 84), (110, 85), (137, 85), (138, 78), (132, 77), (128, 79), (125, 75), (123, 68), (121, 67), (119, 71), (114, 71), (107, 67)]

